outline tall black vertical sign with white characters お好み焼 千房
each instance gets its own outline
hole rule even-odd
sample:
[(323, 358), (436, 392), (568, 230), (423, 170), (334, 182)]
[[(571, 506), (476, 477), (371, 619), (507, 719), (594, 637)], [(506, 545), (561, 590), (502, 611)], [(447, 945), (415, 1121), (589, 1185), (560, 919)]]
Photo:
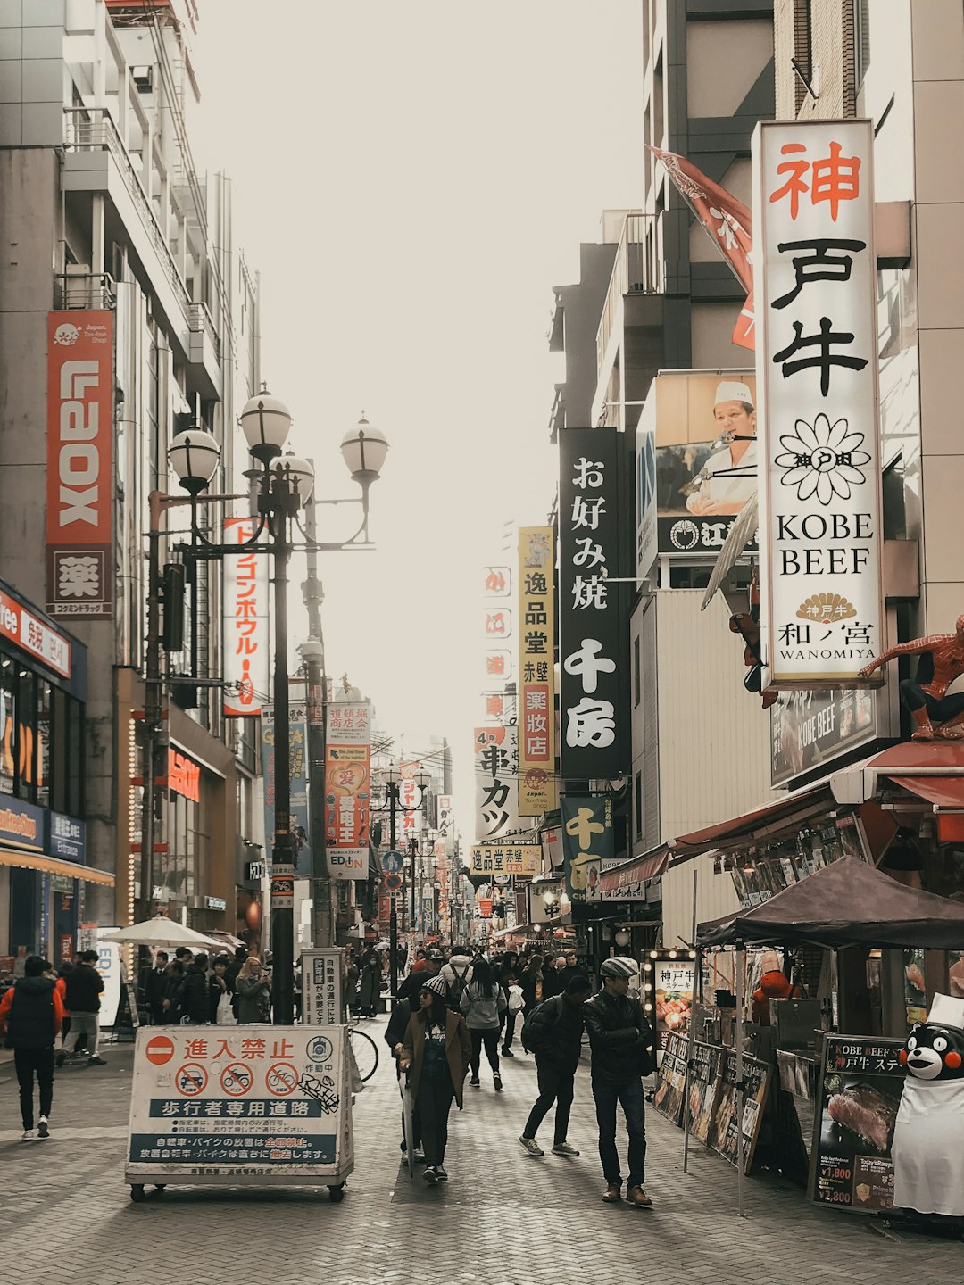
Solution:
[(618, 439), (559, 430), (559, 757), (564, 777), (621, 771)]

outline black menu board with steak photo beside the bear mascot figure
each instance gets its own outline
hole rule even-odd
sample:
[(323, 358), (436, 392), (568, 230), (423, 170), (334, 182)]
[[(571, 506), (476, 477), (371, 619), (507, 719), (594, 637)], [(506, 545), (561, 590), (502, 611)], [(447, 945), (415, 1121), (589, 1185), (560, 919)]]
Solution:
[(824, 1037), (810, 1196), (877, 1213), (893, 1208), (891, 1144), (904, 1068), (902, 1040)]

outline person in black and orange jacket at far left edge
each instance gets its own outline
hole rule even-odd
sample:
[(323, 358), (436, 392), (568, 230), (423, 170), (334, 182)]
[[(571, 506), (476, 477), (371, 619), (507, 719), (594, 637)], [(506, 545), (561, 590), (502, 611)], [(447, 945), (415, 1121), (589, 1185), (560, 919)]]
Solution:
[[(44, 977), (50, 964), (40, 955), (28, 955), (23, 977), (0, 1001), (0, 1032), (13, 1043), (13, 1060), (21, 1091), (21, 1141), (35, 1136), (50, 1137), (50, 1110), (54, 1105), (54, 1043), (66, 1010), (53, 978)], [(40, 1087), (40, 1123), (33, 1133), (33, 1077)]]

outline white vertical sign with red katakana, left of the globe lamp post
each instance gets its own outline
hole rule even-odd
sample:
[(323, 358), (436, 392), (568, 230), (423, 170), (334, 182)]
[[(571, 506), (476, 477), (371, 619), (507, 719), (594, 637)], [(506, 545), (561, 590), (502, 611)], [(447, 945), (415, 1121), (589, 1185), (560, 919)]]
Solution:
[[(243, 545), (253, 518), (225, 518), (226, 545)], [(260, 714), (267, 691), (267, 559), (253, 549), (224, 559), (224, 712), (229, 718)]]

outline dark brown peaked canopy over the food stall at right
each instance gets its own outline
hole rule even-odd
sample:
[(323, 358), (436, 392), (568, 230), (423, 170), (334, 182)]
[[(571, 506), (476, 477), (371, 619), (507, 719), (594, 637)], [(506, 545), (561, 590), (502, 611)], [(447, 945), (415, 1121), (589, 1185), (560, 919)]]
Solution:
[(842, 857), (760, 906), (697, 929), (698, 946), (734, 943), (964, 950), (964, 905)]

